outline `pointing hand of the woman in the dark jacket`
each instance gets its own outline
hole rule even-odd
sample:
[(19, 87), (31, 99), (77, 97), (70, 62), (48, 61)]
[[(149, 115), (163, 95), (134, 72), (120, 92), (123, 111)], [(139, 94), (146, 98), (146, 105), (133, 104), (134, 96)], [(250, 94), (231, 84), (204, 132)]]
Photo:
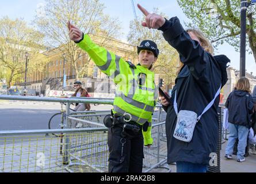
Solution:
[(148, 13), (148, 11), (139, 4), (137, 4), (137, 7), (140, 9), (140, 11), (142, 11), (144, 16), (146, 16), (146, 21), (142, 22), (142, 26), (148, 27), (148, 29), (158, 29), (161, 28), (163, 24), (165, 24), (165, 18), (162, 16), (155, 13)]

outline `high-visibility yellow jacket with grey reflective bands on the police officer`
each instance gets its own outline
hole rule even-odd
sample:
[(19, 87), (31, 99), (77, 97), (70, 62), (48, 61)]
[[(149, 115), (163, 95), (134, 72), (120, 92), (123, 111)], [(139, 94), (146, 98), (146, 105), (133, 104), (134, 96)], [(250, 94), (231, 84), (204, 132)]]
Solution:
[(129, 113), (140, 125), (148, 122), (146, 132), (142, 131), (144, 145), (151, 145), (152, 113), (155, 109), (158, 91), (154, 83), (154, 72), (143, 66), (134, 66), (105, 48), (98, 46), (85, 34), (78, 46), (86, 51), (102, 72), (116, 83), (113, 113)]

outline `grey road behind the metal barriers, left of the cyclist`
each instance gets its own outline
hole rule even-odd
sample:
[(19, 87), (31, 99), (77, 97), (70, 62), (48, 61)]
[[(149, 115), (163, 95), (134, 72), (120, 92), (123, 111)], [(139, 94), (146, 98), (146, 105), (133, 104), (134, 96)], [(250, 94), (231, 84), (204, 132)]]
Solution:
[[(111, 105), (91, 105), (91, 110), (110, 110), (111, 108)], [(48, 129), (49, 118), (60, 110), (61, 105), (56, 102), (1, 101), (0, 131)]]

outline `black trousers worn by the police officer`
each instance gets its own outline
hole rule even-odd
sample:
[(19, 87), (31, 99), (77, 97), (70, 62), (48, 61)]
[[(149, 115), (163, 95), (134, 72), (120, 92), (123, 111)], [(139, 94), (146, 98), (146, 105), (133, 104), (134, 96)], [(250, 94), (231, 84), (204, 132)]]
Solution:
[[(115, 126), (109, 129), (109, 173), (142, 173), (143, 167), (143, 135), (142, 130), (134, 133), (125, 131), (121, 136), (123, 128)], [(123, 138), (123, 139), (122, 139)], [(122, 155), (122, 143), (123, 146)]]

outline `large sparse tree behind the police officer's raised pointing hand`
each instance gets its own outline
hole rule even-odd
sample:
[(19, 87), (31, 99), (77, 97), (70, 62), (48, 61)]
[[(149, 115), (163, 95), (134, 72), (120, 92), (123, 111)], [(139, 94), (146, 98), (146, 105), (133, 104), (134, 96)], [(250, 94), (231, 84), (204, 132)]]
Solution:
[[(119, 22), (103, 13), (104, 4), (98, 0), (47, 0), (44, 16), (36, 16), (35, 23), (45, 34), (46, 44), (56, 53), (65, 53), (66, 62), (76, 72), (76, 79), (82, 78), (89, 67), (90, 59), (85, 52), (70, 41), (67, 22), (77, 26), (84, 33), (97, 37), (99, 45), (109, 44), (110, 37), (119, 35)], [(62, 54), (61, 54), (62, 56)], [(83, 66), (79, 60), (83, 58)]]

